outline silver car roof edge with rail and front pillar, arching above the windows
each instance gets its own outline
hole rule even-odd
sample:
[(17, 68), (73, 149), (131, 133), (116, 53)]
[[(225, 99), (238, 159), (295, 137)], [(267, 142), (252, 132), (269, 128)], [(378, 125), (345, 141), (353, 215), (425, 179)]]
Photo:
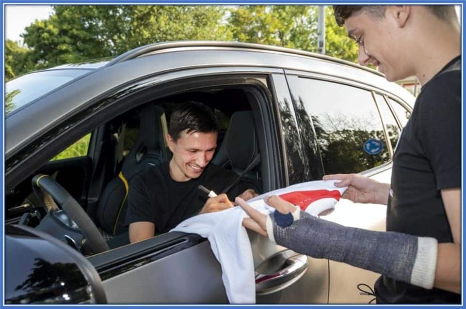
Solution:
[[(244, 72), (254, 72), (258, 68), (270, 68), (269, 72), (278, 74), (284, 72), (294, 74), (293, 70), (301, 70), (356, 81), (394, 93), (408, 104), (414, 102), (413, 96), (410, 97), (402, 87), (387, 82), (384, 75), (379, 72), (356, 63), (290, 48), (259, 44), (211, 41), (164, 42), (135, 48), (110, 61), (60, 67), (81, 66), (82, 68), (92, 65), (96, 68), (90, 70), (89, 74), (38, 98), (6, 119), (5, 133), (8, 137), (14, 135), (5, 139), (5, 153), (8, 157), (15, 153), (21, 144), (27, 143), (27, 140), (39, 132), (47, 130), (47, 127), (57, 119), (69, 117), (74, 110), (81, 110), (85, 103), (101, 97), (103, 93), (115, 91), (116, 88), (142, 78), (152, 78), (158, 74), (186, 69), (200, 68), (208, 71), (218, 67), (241, 67)], [(24, 123), (28, 125), (25, 126)]]

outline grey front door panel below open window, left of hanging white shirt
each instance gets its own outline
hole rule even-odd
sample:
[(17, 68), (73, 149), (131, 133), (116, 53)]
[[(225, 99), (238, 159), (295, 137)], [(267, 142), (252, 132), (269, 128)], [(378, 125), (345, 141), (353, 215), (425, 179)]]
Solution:
[(109, 304), (228, 302), (222, 283), (222, 269), (210, 250), (209, 242), (103, 280), (103, 285)]

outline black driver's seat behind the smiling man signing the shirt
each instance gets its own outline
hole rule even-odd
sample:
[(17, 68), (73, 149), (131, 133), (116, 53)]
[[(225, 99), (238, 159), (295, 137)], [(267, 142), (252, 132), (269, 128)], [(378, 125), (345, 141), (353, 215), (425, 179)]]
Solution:
[(260, 174), (255, 170), (260, 154), (252, 111), (237, 111), (231, 115), (225, 138), (211, 163), (233, 170), (242, 181), (250, 182), (257, 192), (261, 191)]

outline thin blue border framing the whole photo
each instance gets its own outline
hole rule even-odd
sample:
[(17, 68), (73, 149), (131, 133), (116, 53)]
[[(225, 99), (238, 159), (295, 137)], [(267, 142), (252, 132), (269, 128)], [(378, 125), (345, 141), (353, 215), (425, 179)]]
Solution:
[[(0, 92), (1, 92), (1, 118), (0, 118), (0, 143), (1, 143), (1, 157), (0, 160), (0, 174), (1, 174), (1, 185), (0, 185), (0, 196), (1, 196), (1, 213), (0, 213), (0, 242), (1, 242), (1, 254), (0, 254), (0, 277), (1, 277), (1, 289), (0, 289), (0, 296), (1, 296), (1, 303), (0, 307), (21, 307), (21, 308), (32, 308), (32, 307), (53, 307), (53, 308), (62, 308), (62, 307), (76, 307), (76, 306), (92, 306), (92, 307), (118, 307), (118, 308), (134, 308), (134, 307), (162, 307), (162, 308), (181, 308), (181, 307), (209, 307), (209, 308), (221, 308), (228, 306), (230, 308), (249, 308), (249, 307), (287, 307), (287, 308), (305, 308), (305, 307), (325, 307), (325, 308), (337, 308), (337, 307), (365, 307), (368, 305), (36, 305), (36, 306), (22, 306), (22, 305), (4, 305), (4, 214), (5, 214), (5, 192), (4, 192), (4, 183), (5, 183), (5, 170), (4, 170), (4, 163), (5, 163), (5, 153), (4, 153), (4, 83), (5, 83), (5, 76), (4, 76), (4, 60), (5, 60), (5, 5), (8, 4), (45, 4), (45, 5), (53, 5), (53, 4), (218, 4), (218, 5), (240, 5), (240, 4), (309, 4), (309, 5), (317, 5), (317, 4), (454, 4), (454, 5), (461, 5), (461, 53), (464, 53), (464, 41), (465, 41), (465, 23), (464, 23), (464, 16), (466, 15), (466, 0), (460, 1), (421, 1), (421, 0), (411, 0), (411, 1), (369, 1), (369, 0), (362, 0), (362, 1), (349, 1), (349, 0), (340, 0), (340, 1), (329, 1), (329, 0), (321, 0), (321, 1), (312, 1), (312, 0), (99, 0), (99, 1), (84, 1), (84, 0), (67, 0), (67, 1), (60, 1), (60, 0), (0, 0), (0, 15), (1, 15), (1, 40), (0, 40), (0, 50), (1, 50), (1, 60), (0, 60), (0, 70), (1, 70), (1, 83), (0, 83)], [(462, 157), (462, 168), (461, 168), (461, 180), (462, 180), (462, 205), (465, 205), (466, 201), (466, 192), (464, 190), (465, 184), (465, 164), (464, 164), (464, 142), (465, 142), (465, 128), (464, 128), (464, 119), (465, 119), (465, 101), (464, 101), (464, 72), (465, 72), (465, 61), (462, 59), (462, 141), (461, 141), (461, 157)], [(465, 219), (465, 212), (462, 208), (462, 237), (463, 240), (465, 239), (465, 230), (464, 230), (464, 219)], [(463, 265), (465, 261), (464, 255), (464, 245), (462, 243), (462, 258), (463, 258)], [(465, 293), (465, 284), (464, 284), (464, 275), (465, 275), (465, 268), (462, 267), (462, 305), (440, 305), (443, 307), (463, 307), (464, 306), (464, 293)], [(309, 287), (312, 289), (312, 287)], [(377, 306), (384, 306), (388, 308), (396, 308), (396, 307), (406, 307), (406, 305), (377, 305)], [(436, 305), (413, 305), (415, 307), (439, 307)]]

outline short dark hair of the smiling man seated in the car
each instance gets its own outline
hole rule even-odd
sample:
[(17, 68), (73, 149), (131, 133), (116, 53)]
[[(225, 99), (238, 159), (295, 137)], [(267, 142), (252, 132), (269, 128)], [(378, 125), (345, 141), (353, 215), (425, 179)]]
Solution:
[(211, 108), (200, 102), (187, 101), (181, 103), (170, 116), (168, 133), (172, 139), (177, 141), (179, 134), (184, 130), (188, 130), (187, 133), (218, 133), (217, 117), (215, 117)]

